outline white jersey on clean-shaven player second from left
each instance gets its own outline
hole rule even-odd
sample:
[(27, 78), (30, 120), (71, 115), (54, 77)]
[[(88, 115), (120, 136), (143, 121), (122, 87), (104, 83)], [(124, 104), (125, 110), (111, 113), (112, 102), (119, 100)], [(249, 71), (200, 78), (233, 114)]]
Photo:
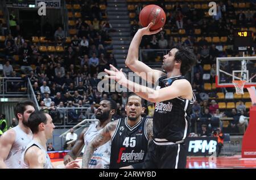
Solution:
[(37, 141), (34, 141), (32, 140), (27, 146), (26, 146), (26, 149), (24, 150), (24, 152), (22, 153), (22, 158), (21, 158), (21, 168), (22, 169), (28, 169), (29, 168), (29, 165), (24, 161), (24, 156), (25, 156), (25, 153), (27, 152), (27, 149), (28, 148), (31, 148), (31, 146), (38, 146), (39, 149), (41, 149), (43, 151), (43, 156), (45, 156), (44, 158), (40, 158), (40, 157), (36, 157), (38, 158), (38, 160), (40, 161), (43, 161), (44, 160), (44, 169), (53, 169), (53, 166), (52, 166), (52, 163), (51, 163), (51, 159), (49, 157), (49, 155), (47, 154), (47, 151), (46, 149), (41, 145), (39, 144)]

